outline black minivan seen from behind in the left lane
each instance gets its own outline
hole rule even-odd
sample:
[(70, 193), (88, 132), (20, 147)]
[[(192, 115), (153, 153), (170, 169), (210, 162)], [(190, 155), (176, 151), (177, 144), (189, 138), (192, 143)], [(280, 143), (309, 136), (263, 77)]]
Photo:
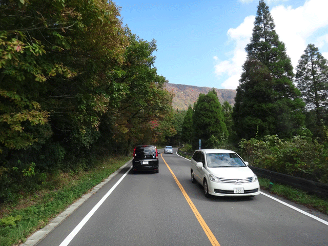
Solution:
[(156, 146), (138, 145), (134, 147), (132, 172), (150, 170), (158, 173), (158, 152)]

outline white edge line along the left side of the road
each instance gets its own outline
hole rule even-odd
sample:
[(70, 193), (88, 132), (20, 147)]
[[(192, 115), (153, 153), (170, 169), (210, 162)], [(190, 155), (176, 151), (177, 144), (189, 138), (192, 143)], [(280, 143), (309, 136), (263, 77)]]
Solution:
[(132, 166), (129, 170), (115, 183), (115, 185), (106, 193), (106, 195), (101, 198), (100, 201), (93, 207), (93, 209), (86, 215), (86, 217), (78, 223), (78, 225), (74, 228), (74, 230), (65, 238), (63, 242), (60, 243), (59, 246), (67, 246), (71, 240), (76, 236), (76, 234), (83, 228), (83, 226), (88, 222), (91, 216), (97, 211), (97, 209), (103, 204), (103, 202), (107, 199), (107, 197), (114, 191), (114, 189), (118, 186), (118, 184), (125, 178), (125, 176), (130, 172)]

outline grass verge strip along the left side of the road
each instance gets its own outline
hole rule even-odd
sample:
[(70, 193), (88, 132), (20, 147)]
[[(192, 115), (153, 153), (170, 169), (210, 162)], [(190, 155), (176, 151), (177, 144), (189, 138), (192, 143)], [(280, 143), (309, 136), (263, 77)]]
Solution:
[(104, 158), (88, 171), (60, 173), (52, 181), (53, 190), (23, 194), (17, 204), (0, 207), (0, 245), (19, 245), (35, 230), (43, 228), (75, 200), (90, 191), (127, 161), (130, 156)]

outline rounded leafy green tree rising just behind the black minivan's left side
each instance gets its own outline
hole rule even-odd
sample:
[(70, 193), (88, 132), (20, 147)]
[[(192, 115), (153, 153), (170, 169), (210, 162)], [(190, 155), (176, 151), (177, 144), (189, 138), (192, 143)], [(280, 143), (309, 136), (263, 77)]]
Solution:
[[(167, 129), (168, 115), (172, 114), (173, 94), (165, 89), (165, 77), (157, 74), (154, 66), (157, 50), (156, 41), (139, 38), (128, 27), (125, 28), (128, 46), (125, 48), (124, 61), (117, 66), (112, 75), (113, 86), (110, 90), (121, 92), (117, 104), (113, 105), (101, 120), (101, 138), (99, 143), (106, 143), (109, 149), (118, 148), (124, 151), (135, 144), (152, 144), (158, 138), (160, 129)], [(111, 93), (108, 93), (111, 95)], [(158, 127), (154, 127), (154, 120)], [(170, 124), (168, 124), (170, 125)], [(155, 132), (157, 135), (154, 135)], [(163, 136), (161, 136), (163, 137)], [(114, 141), (113, 141), (114, 140)]]

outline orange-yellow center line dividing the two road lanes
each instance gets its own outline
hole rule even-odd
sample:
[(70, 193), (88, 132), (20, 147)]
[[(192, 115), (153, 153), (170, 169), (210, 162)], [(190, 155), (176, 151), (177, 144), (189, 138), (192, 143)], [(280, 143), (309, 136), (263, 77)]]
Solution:
[(163, 159), (163, 161), (165, 162), (165, 165), (168, 167), (169, 171), (171, 172), (175, 182), (177, 183), (178, 187), (180, 188), (183, 196), (185, 196), (191, 210), (194, 212), (196, 218), (198, 219), (198, 222), (200, 223), (200, 226), (202, 227), (202, 229), (204, 230), (204, 232), (206, 233), (207, 237), (209, 238), (210, 242), (212, 243), (213, 246), (220, 246), (219, 242), (216, 240), (215, 236), (213, 235), (212, 231), (210, 230), (210, 228), (207, 226), (206, 222), (204, 221), (204, 219), (201, 217), (200, 213), (198, 212), (198, 210), (196, 209), (194, 203), (191, 201), (191, 199), (189, 198), (187, 192), (185, 191), (185, 189), (183, 189), (183, 187), (181, 186), (181, 183), (179, 182), (179, 180), (176, 178), (176, 176), (174, 175), (173, 171), (171, 170), (171, 168), (169, 167), (168, 163), (165, 161), (165, 159), (163, 158), (162, 154), (160, 155)]

